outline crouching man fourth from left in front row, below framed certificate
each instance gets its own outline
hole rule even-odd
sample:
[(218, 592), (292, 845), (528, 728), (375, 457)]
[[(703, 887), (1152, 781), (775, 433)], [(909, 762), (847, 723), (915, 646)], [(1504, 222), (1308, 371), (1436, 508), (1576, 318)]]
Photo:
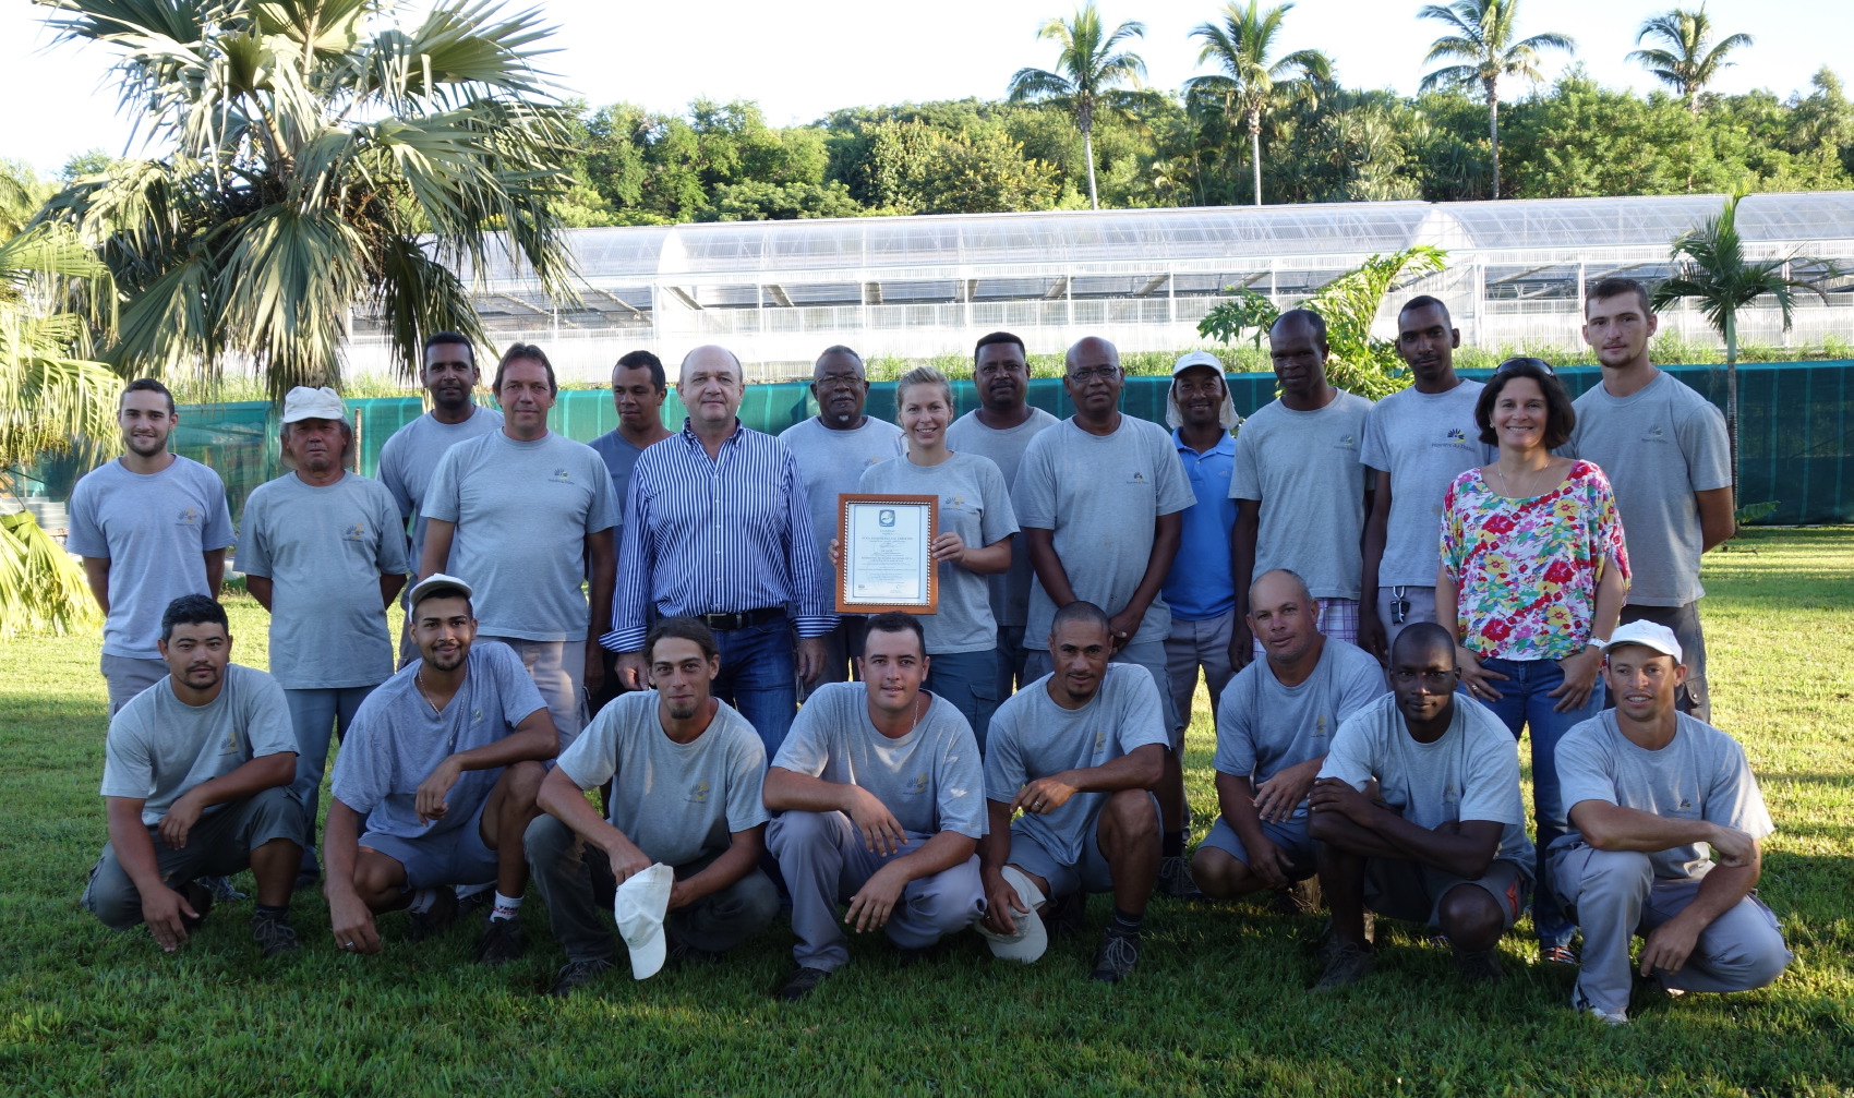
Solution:
[(786, 1002), (849, 961), (838, 903), (857, 933), (886, 929), (903, 963), (984, 914), (979, 742), (951, 701), (921, 690), (921, 623), (871, 618), (857, 666), (860, 683), (819, 686), (799, 709), (766, 773), (766, 807), (782, 812), (766, 842), (799, 937), (797, 970), (773, 992)]

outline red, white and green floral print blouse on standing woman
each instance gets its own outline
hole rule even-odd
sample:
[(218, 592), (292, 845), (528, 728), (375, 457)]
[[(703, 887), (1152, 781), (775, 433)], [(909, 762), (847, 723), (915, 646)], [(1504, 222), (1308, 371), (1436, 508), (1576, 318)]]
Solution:
[(1609, 479), (1591, 462), (1544, 495), (1507, 499), (1468, 469), (1442, 499), (1442, 568), (1457, 590), (1461, 644), (1481, 658), (1561, 660), (1591, 640), (1604, 558), (1628, 551)]

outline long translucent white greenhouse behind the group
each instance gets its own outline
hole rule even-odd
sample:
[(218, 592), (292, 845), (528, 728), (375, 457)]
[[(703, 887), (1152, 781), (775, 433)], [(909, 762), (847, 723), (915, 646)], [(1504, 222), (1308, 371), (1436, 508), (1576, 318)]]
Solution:
[[(1283, 308), (1374, 254), (1433, 245), (1448, 269), (1392, 297), (1433, 293), (1479, 347), (1574, 347), (1581, 287), (1607, 274), (1654, 282), (1669, 243), (1722, 195), (1502, 202), (1352, 202), (749, 221), (573, 230), (580, 300), (552, 302), (527, 273), (484, 271), (476, 308), (497, 343), (549, 351), (564, 378), (603, 378), (623, 352), (673, 362), (721, 343), (756, 378), (808, 373), (847, 343), (864, 356), (960, 352), (1007, 328), (1033, 352), (1083, 334), (1122, 351), (1200, 343), (1227, 287)], [(1739, 206), (1752, 256), (1854, 269), (1854, 191), (1752, 195)], [(1798, 274), (1808, 274), (1800, 265)], [(1854, 334), (1854, 278), (1798, 299), (1785, 334), (1774, 306), (1746, 310), (1741, 338), (1819, 343)], [(1379, 315), (1389, 334), (1392, 308)], [(1711, 339), (1693, 306), (1661, 321)], [(354, 317), (350, 371), (384, 373), (378, 328)]]

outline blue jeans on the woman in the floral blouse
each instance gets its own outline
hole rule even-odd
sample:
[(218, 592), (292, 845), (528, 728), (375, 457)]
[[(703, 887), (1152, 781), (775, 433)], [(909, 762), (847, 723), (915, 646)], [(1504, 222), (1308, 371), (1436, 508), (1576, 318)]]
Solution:
[(1557, 666), (1557, 660), (1483, 658), (1481, 666), (1505, 675), (1504, 681), (1494, 683), (1500, 701), (1481, 701), (1481, 705), (1491, 709), (1513, 731), (1515, 740), (1518, 740), (1522, 727), (1531, 729), (1531, 818), (1537, 825), (1537, 866), (1533, 870), (1537, 879), (1531, 890), (1531, 926), (1539, 933), (1539, 944), (1568, 946), (1578, 927), (1565, 916), (1557, 901), (1557, 890), (1552, 888), (1550, 859), (1544, 855), (1552, 840), (1565, 833), (1554, 824), (1554, 820), (1565, 818), (1557, 803), (1557, 742), (1565, 738), (1565, 733), (1572, 725), (1580, 725), (1602, 712), (1604, 679), (1602, 675), (1596, 677), (1591, 696), (1583, 701), (1581, 709), (1557, 712), (1554, 707), (1559, 699), (1552, 697), (1552, 690), (1557, 690), (1565, 683), (1565, 670)]

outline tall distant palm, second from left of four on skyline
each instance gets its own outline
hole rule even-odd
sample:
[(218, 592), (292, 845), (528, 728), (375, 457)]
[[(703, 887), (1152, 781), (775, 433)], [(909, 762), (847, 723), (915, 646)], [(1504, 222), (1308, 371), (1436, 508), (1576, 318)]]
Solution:
[(1270, 59), (1281, 17), (1294, 6), (1263, 11), (1257, 0), (1248, 7), (1229, 0), (1222, 22), (1200, 22), (1190, 37), (1203, 39), (1198, 63), (1216, 61), (1222, 72), (1192, 76), (1185, 87), (1224, 100), (1224, 109), (1242, 113), (1250, 126), (1250, 167), (1255, 171), (1255, 204), (1263, 204), (1263, 111), (1290, 98), (1316, 98), (1333, 80), (1333, 61), (1320, 50), (1298, 50)]

